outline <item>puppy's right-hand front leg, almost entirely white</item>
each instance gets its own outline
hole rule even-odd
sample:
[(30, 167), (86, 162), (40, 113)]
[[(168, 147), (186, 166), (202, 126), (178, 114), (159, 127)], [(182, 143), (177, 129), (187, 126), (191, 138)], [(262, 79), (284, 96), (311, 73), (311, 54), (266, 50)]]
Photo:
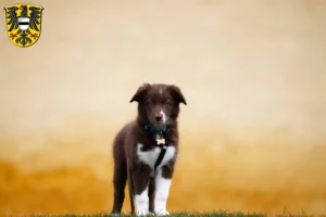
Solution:
[(172, 182), (172, 175), (173, 168), (170, 166), (164, 166), (158, 170), (155, 177), (156, 195), (154, 200), (154, 210), (159, 216), (170, 215), (170, 213), (166, 210), (166, 202)]

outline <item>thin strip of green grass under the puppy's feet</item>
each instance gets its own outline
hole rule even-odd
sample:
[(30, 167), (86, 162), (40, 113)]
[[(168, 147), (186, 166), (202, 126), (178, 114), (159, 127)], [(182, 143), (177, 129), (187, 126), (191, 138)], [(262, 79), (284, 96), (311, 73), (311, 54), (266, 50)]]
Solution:
[[(87, 215), (74, 215), (74, 214), (65, 214), (65, 215), (32, 215), (30, 217), (113, 217), (114, 215), (110, 214), (87, 214)], [(131, 215), (122, 214), (115, 215), (114, 217), (128, 217)], [(149, 215), (152, 216), (153, 215)], [(255, 214), (255, 213), (227, 213), (227, 212), (213, 212), (213, 213), (172, 213), (171, 217), (267, 217), (265, 214)], [(287, 214), (287, 215), (276, 215), (275, 217), (311, 217), (304, 214)], [(321, 216), (321, 217), (326, 217)]]

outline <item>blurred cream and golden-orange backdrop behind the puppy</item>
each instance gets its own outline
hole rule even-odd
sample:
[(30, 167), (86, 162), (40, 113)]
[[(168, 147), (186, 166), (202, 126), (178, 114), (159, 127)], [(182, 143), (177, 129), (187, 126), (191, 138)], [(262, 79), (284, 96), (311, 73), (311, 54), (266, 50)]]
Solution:
[(326, 1), (34, 3), (34, 46), (0, 22), (0, 215), (110, 212), (142, 82), (188, 102), (170, 212), (326, 213)]

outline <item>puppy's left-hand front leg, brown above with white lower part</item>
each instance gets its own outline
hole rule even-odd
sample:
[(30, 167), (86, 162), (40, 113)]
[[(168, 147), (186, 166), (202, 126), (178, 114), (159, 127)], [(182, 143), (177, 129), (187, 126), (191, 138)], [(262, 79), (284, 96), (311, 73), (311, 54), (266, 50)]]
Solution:
[(146, 216), (149, 214), (149, 180), (150, 169), (138, 168), (133, 170), (133, 181), (135, 190), (136, 215)]

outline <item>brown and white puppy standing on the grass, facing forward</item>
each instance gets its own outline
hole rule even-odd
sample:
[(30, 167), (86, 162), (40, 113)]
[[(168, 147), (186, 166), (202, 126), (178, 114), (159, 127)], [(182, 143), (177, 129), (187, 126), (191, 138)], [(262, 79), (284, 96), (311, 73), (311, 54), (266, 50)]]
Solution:
[[(170, 215), (166, 210), (170, 187), (178, 153), (177, 118), (179, 103), (186, 103), (180, 89), (174, 85), (149, 85), (139, 87), (130, 102), (138, 102), (137, 119), (117, 133), (113, 144), (114, 202), (113, 214), (120, 214), (124, 202), (124, 189), (129, 170), (131, 209), (137, 215), (154, 213)], [(161, 152), (156, 144), (162, 132), (168, 146), (161, 164), (154, 164)]]

